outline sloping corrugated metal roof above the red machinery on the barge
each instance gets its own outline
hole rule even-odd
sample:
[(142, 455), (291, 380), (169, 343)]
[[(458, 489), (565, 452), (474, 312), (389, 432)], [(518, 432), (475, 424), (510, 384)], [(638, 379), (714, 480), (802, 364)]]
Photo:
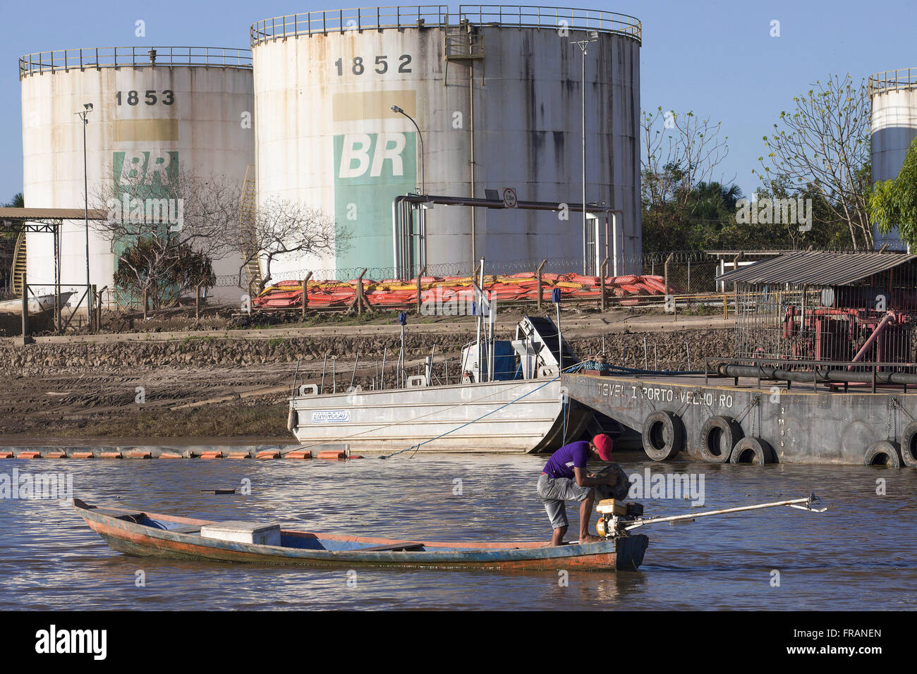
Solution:
[(914, 258), (917, 255), (801, 251), (728, 271), (717, 276), (716, 280), (752, 284), (847, 285)]

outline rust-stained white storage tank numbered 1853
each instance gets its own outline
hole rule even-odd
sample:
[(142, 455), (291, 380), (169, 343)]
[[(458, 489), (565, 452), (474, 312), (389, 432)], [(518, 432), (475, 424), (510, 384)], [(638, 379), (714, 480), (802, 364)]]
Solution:
[[(19, 59), (26, 206), (82, 208), (83, 120), (90, 207), (119, 185), (152, 184), (179, 165), (239, 186), (254, 164), (254, 89), (249, 50), (127, 47), (57, 50)], [(133, 188), (132, 188), (133, 189)], [(99, 204), (96, 204), (99, 205)], [(231, 204), (238, 209), (238, 204)], [(82, 220), (61, 227), (61, 283), (86, 282)], [(238, 274), (238, 251), (214, 261)], [(54, 282), (53, 237), (28, 235), (28, 282)], [(112, 286), (117, 259), (90, 227), (92, 283)], [(244, 282), (243, 282), (244, 283)], [(211, 291), (238, 301), (235, 282)]]

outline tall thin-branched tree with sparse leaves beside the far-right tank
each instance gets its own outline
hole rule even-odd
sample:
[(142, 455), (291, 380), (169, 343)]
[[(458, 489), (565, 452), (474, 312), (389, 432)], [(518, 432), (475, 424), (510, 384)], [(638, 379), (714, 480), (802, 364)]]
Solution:
[(793, 102), (795, 112), (780, 112), (782, 127), (775, 124), (774, 134), (764, 137), (768, 154), (758, 158), (765, 171), (758, 175), (766, 184), (814, 185), (849, 229), (854, 249), (871, 247), (866, 88), (862, 82), (856, 87), (849, 73), (843, 79), (834, 75), (826, 83), (816, 81)]

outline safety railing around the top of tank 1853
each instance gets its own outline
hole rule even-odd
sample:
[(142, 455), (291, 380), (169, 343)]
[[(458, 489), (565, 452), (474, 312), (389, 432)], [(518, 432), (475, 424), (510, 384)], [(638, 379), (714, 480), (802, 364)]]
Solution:
[(36, 51), (19, 57), (19, 79), (39, 72), (127, 66), (251, 68), (251, 51), (232, 47), (87, 47)]

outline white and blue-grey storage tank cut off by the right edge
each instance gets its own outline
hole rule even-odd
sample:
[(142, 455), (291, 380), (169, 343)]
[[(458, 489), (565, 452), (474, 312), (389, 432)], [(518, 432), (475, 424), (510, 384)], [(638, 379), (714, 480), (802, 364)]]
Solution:
[[(917, 68), (883, 71), (869, 77), (869, 100), (872, 103), (871, 151), (872, 182), (898, 177), (904, 156), (917, 137)], [(873, 232), (876, 248), (889, 244), (891, 249), (907, 248), (898, 232), (883, 235)]]

